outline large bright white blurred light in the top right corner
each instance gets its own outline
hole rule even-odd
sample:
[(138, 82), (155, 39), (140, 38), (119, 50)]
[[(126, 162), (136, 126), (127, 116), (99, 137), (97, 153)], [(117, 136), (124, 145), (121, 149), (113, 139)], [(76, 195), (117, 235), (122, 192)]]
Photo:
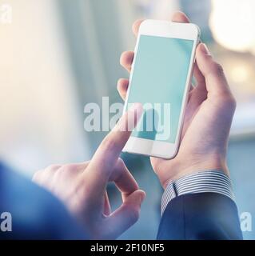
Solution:
[(229, 50), (255, 54), (255, 1), (212, 0), (209, 26), (215, 40)]

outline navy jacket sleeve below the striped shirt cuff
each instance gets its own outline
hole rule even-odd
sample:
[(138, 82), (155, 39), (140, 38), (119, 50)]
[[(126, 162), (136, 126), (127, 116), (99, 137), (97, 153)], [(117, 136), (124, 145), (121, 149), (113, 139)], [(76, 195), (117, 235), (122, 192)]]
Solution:
[(165, 208), (157, 239), (242, 239), (237, 206), (223, 194), (183, 194)]

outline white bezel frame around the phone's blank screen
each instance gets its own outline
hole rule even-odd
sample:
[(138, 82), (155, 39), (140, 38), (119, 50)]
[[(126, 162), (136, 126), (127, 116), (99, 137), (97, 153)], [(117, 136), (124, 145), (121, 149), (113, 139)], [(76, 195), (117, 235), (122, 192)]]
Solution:
[[(177, 154), (177, 151), (180, 145), (181, 129), (183, 126), (185, 106), (188, 100), (189, 86), (190, 86), (190, 81), (193, 73), (195, 51), (196, 51), (197, 43), (199, 42), (199, 38), (200, 38), (200, 30), (198, 26), (196, 26), (193, 23), (166, 22), (166, 21), (159, 21), (159, 20), (145, 20), (144, 22), (141, 22), (141, 26), (139, 28), (139, 32), (137, 35), (137, 43), (134, 49), (133, 64), (131, 66), (131, 72), (129, 76), (129, 85), (131, 85), (131, 82), (132, 82), (133, 66), (135, 65), (137, 49), (139, 46), (141, 35), (193, 40), (193, 50), (192, 50), (192, 54), (189, 62), (189, 71), (188, 71), (188, 75), (185, 83), (185, 92), (184, 92), (184, 97), (181, 104), (181, 114), (180, 114), (180, 120), (178, 123), (177, 136), (176, 136), (175, 143), (153, 141), (145, 138), (137, 138), (137, 137), (130, 136), (129, 141), (126, 143), (126, 146), (122, 150), (123, 152), (128, 152), (132, 154), (144, 154), (147, 156), (169, 159), (169, 158), (173, 158)], [(126, 102), (124, 105), (123, 114), (126, 112), (127, 102), (129, 98), (129, 90), (130, 90), (130, 86), (126, 94)]]

